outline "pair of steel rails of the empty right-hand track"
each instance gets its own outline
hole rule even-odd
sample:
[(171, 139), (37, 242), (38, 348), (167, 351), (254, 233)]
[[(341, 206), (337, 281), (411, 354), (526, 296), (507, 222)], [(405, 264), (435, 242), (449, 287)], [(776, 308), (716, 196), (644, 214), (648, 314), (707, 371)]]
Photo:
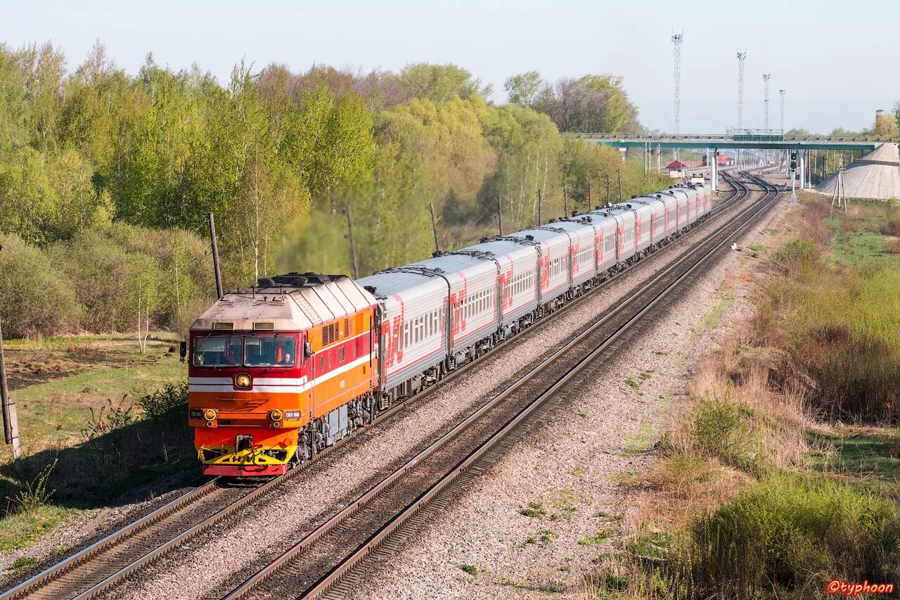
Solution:
[[(741, 186), (735, 186), (735, 195), (737, 195), (736, 190), (739, 187)], [(743, 191), (749, 193), (749, 190), (746, 186), (743, 186)], [(775, 195), (769, 198), (769, 195), (772, 191), (775, 192)], [(623, 332), (630, 329), (634, 323), (640, 322), (644, 314), (647, 314), (647, 312), (652, 310), (653, 306), (660, 302), (662, 298), (669, 295), (672, 290), (679, 287), (681, 282), (683, 282), (702, 265), (705, 265), (707, 263), (707, 259), (713, 256), (712, 253), (715, 250), (721, 248), (727, 241), (731, 240), (731, 238), (735, 234), (737, 234), (738, 232), (742, 232), (743, 228), (748, 223), (752, 223), (753, 218), (756, 215), (760, 214), (765, 208), (768, 208), (768, 206), (770, 206), (777, 197), (778, 190), (774, 187), (767, 187), (766, 194), (760, 202), (745, 208), (740, 214), (735, 215), (731, 220), (729, 220), (728, 223), (725, 223), (725, 225), (722, 227), (722, 230), (726, 229), (731, 224), (740, 220), (744, 214), (753, 211), (752, 214), (743, 221), (743, 223), (738, 224), (734, 231), (728, 232), (721, 241), (717, 241), (716, 245), (712, 249), (707, 250), (698, 259), (696, 259), (684, 273), (681, 273), (680, 276), (677, 277), (669, 286), (666, 286), (662, 290), (662, 292), (654, 295), (653, 299), (651, 299), (650, 302), (644, 305), (644, 307), (637, 314), (635, 314), (635, 316), (629, 318), (626, 323), (622, 324), (616, 330), (616, 332), (606, 338), (605, 341), (602, 341), (597, 348), (592, 350), (586, 358), (581, 359), (575, 367), (567, 371), (566, 374), (563, 375), (563, 377), (557, 379), (557, 381), (547, 390), (545, 390), (545, 392), (541, 393), (535, 399), (533, 399), (513, 419), (503, 425), (500, 431), (495, 432), (487, 441), (483, 441), (482, 444), (473, 451), (473, 453), (471, 453), (461, 462), (457, 463), (455, 468), (447, 472), (446, 475), (442, 477), (436, 484), (430, 486), (428, 490), (423, 492), (422, 495), (419, 495), (415, 502), (408, 505), (404, 510), (402, 510), (400, 514), (395, 514), (391, 518), (391, 520), (388, 521), (388, 523), (385, 523), (374, 534), (374, 536), (372, 536), (363, 545), (359, 546), (350, 555), (339, 561), (338, 565), (332, 568), (328, 575), (322, 577), (318, 583), (304, 592), (302, 597), (314, 597), (320, 595), (321, 593), (327, 591), (330, 586), (335, 585), (340, 577), (346, 575), (347, 572), (354, 566), (356, 566), (356, 564), (360, 560), (365, 559), (365, 556), (371, 550), (373, 550), (376, 546), (383, 542), (392, 532), (396, 531), (396, 529), (400, 527), (402, 523), (405, 523), (412, 514), (418, 513), (424, 505), (428, 504), (428, 502), (432, 498), (434, 498), (443, 489), (445, 489), (446, 486), (449, 486), (454, 481), (455, 477), (459, 477), (466, 468), (473, 466), (473, 464), (477, 460), (482, 459), (485, 455), (490, 453), (491, 449), (494, 448), (500, 440), (504, 439), (509, 434), (509, 432), (512, 432), (518, 426), (518, 424), (527, 419), (530, 414), (533, 414), (536, 408), (540, 405), (543, 405), (547, 398), (554, 395), (554, 393), (559, 390), (560, 387), (564, 386), (565, 383), (572, 379), (572, 377), (575, 377), (578, 373), (580, 373), (581, 370), (586, 365), (590, 364), (590, 362), (594, 358), (596, 358), (600, 352), (608, 349), (608, 347), (615, 341), (617, 341), (619, 336)], [(482, 405), (481, 408), (476, 410), (473, 414), (470, 414), (463, 422), (458, 423), (452, 430), (446, 432), (437, 441), (432, 442), (432, 444), (430, 444), (428, 448), (419, 452), (419, 454), (410, 459), (401, 468), (395, 470), (390, 476), (385, 477), (382, 482), (370, 488), (364, 495), (358, 496), (354, 502), (352, 502), (350, 505), (347, 505), (344, 509), (338, 512), (338, 514), (333, 515), (325, 523), (320, 524), (319, 527), (317, 527), (313, 532), (310, 532), (302, 539), (302, 541), (295, 544), (290, 550), (287, 550), (278, 558), (270, 562), (268, 565), (266, 565), (265, 568), (257, 571), (256, 574), (249, 577), (240, 586), (235, 588), (229, 595), (225, 596), (226, 600), (236, 600), (237, 598), (244, 597), (245, 595), (251, 593), (257, 586), (266, 581), (268, 577), (272, 577), (279, 569), (283, 568), (293, 559), (300, 556), (302, 552), (310, 549), (311, 546), (319, 541), (324, 535), (335, 529), (339, 524), (345, 522), (350, 516), (359, 512), (365, 505), (370, 503), (374, 499), (374, 497), (382, 494), (385, 489), (387, 489), (389, 486), (392, 486), (392, 484), (403, 477), (404, 474), (408, 473), (410, 469), (419, 465), (420, 462), (427, 459), (429, 456), (434, 455), (438, 449), (445, 447), (446, 444), (449, 441), (454, 440), (460, 432), (463, 432), (466, 428), (468, 428), (472, 423), (475, 423), (483, 415), (488, 414), (495, 406), (500, 405), (500, 403), (502, 403), (514, 391), (518, 390), (522, 386), (525, 386), (529, 381), (536, 377), (537, 373), (553, 365), (554, 362), (559, 359), (559, 357), (561, 357), (564, 353), (575, 348), (579, 343), (581, 343), (581, 341), (587, 339), (592, 333), (597, 332), (603, 325), (608, 323), (615, 316), (625, 311), (627, 305), (635, 301), (635, 299), (640, 298), (644, 294), (644, 290), (650, 289), (651, 286), (658, 283), (659, 281), (662, 281), (664, 277), (668, 276), (674, 269), (686, 264), (689, 261), (689, 257), (704, 249), (707, 243), (709, 243), (710, 241), (716, 241), (715, 238), (717, 233), (721, 232), (722, 230), (716, 230), (716, 232), (711, 233), (707, 236), (707, 238), (698, 242), (698, 244), (694, 248), (686, 252), (682, 257), (676, 259), (676, 261), (672, 263), (671, 266), (664, 269), (661, 273), (650, 277), (646, 282), (644, 282), (644, 285), (636, 288), (635, 291), (613, 311), (605, 314), (597, 323), (592, 324), (584, 332), (581, 332), (574, 339), (572, 339), (572, 341), (569, 341), (567, 344), (565, 344), (563, 348), (556, 350), (550, 357), (544, 359), (536, 368), (530, 370), (524, 377), (519, 378), (512, 386), (509, 386), (506, 390), (500, 393), (500, 395), (496, 395), (491, 399), (489, 403), (487, 403), (486, 405)]]

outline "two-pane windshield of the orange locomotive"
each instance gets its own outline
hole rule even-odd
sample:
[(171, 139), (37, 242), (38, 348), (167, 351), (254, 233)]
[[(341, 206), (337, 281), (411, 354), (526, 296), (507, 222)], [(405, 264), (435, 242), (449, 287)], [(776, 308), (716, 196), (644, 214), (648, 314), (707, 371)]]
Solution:
[(297, 340), (291, 336), (217, 336), (193, 340), (194, 367), (293, 367)]

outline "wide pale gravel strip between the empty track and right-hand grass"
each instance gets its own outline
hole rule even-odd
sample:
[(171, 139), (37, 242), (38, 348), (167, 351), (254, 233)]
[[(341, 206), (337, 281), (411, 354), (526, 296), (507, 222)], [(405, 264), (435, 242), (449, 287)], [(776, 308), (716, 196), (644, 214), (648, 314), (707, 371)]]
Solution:
[[(739, 246), (764, 245), (782, 202)], [(482, 476), (390, 565), (373, 568), (356, 598), (522, 598), (577, 595), (592, 560), (615, 540), (627, 509), (620, 482), (688, 405), (699, 355), (752, 310), (750, 252), (722, 260), (670, 315), (613, 359), (581, 399)]]

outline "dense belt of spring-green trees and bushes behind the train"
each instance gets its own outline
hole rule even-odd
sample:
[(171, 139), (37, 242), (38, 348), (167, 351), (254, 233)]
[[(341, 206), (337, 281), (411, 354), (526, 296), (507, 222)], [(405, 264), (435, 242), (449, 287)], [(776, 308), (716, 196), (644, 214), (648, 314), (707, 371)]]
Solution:
[(538, 193), (545, 220), (563, 214), (563, 185), (572, 208), (619, 170), (638, 193), (650, 179), (615, 150), (559, 136), (563, 91), (578, 126), (637, 127), (621, 84), (587, 76), (556, 93), (528, 71), (495, 106), (455, 65), (255, 73), (241, 61), (222, 86), (152, 55), (131, 76), (99, 42), (71, 75), (50, 44), (0, 45), (0, 232), (40, 248), (46, 277), (76, 290), (74, 308), (70, 295), (49, 311), (41, 300), (15, 334), (184, 332), (211, 300), (209, 213), (233, 287), (276, 269), (348, 272), (347, 210), (365, 274), (428, 256), (429, 205), (450, 246), (493, 232), (498, 198), (520, 229), (536, 224)]

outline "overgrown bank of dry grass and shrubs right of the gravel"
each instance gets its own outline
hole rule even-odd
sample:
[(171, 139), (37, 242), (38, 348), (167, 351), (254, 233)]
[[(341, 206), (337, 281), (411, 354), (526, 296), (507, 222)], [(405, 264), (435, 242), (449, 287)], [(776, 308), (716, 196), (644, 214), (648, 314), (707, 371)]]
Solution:
[(625, 541), (585, 597), (815, 598), (830, 578), (900, 580), (900, 208), (829, 213), (810, 202), (786, 228), (796, 240), (754, 249), (770, 257), (756, 311), (698, 361), (661, 458), (623, 482)]

